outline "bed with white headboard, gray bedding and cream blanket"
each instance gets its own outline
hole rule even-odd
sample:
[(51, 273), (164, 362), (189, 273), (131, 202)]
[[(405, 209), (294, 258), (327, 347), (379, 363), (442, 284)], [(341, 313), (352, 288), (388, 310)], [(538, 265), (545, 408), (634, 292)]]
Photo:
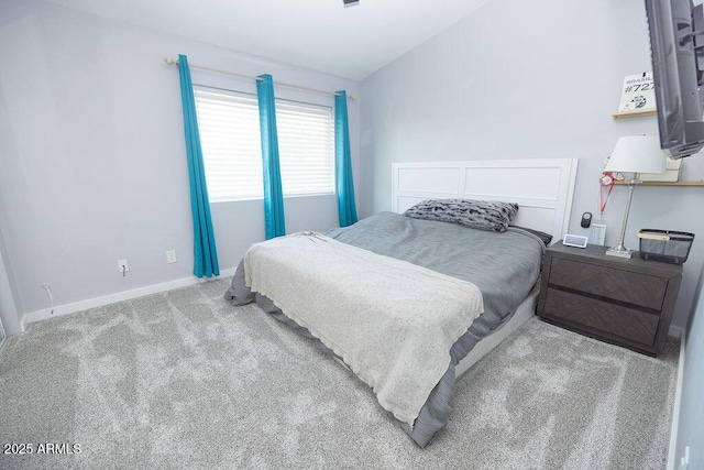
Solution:
[[(576, 159), (394, 164), (392, 211), (255, 243), (224, 297), (319, 341), (424, 447), (449, 419), (457, 378), (534, 315), (575, 173)], [(518, 210), (497, 231), (437, 217), (458, 200)]]

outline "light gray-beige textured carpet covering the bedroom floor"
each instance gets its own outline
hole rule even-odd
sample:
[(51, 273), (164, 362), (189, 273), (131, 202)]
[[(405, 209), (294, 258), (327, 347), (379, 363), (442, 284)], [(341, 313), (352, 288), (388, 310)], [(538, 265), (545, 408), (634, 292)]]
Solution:
[(531, 320), (458, 381), (450, 423), (419, 449), (312, 341), (222, 300), (228, 284), (9, 338), (0, 442), (33, 453), (0, 468), (666, 466), (676, 342), (652, 359)]

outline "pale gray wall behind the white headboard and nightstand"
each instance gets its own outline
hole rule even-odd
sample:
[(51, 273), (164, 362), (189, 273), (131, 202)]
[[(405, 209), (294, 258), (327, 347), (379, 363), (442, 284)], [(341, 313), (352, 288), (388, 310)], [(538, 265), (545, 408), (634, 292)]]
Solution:
[[(391, 164), (579, 157), (570, 232), (598, 216), (598, 177), (617, 139), (657, 134), (654, 117), (612, 119), (624, 76), (650, 70), (642, 1), (494, 0), (363, 81), (363, 214), (391, 208)], [(682, 179), (704, 179), (704, 154)], [(620, 232), (626, 188), (605, 212)], [(626, 245), (641, 228), (697, 233), (673, 324), (686, 324), (704, 261), (704, 188), (636, 188)]]

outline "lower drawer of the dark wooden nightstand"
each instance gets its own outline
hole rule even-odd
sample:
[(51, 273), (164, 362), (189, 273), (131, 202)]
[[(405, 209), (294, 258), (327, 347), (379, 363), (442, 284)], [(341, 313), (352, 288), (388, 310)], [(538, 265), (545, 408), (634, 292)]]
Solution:
[(557, 288), (548, 289), (543, 315), (648, 346), (653, 343), (660, 323), (657, 315)]

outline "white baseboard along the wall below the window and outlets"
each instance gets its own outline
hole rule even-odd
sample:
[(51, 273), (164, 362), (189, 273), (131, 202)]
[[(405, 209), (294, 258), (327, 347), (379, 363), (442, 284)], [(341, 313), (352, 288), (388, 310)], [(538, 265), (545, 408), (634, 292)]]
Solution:
[[(129, 300), (131, 298), (143, 297), (150, 294), (157, 294), (160, 292), (172, 291), (174, 288), (186, 287), (208, 281), (215, 281), (227, 276), (234, 275), (235, 267), (220, 271), (218, 277), (184, 277), (180, 280), (168, 281), (161, 284), (152, 284), (145, 287), (134, 288), (132, 291), (123, 291), (114, 294), (106, 295), (102, 297), (88, 298), (86, 300), (74, 302), (73, 304), (57, 305), (54, 307), (54, 313), (48, 308), (42, 310), (30, 311), (22, 315), (20, 319), (20, 328), (22, 332), (26, 330), (26, 326), (34, 321), (41, 321), (48, 318), (61, 317), (62, 315), (74, 314), (76, 311), (87, 310), (88, 308), (101, 307), (108, 304), (114, 304), (116, 302)], [(224, 294), (224, 293), (223, 293)]]

